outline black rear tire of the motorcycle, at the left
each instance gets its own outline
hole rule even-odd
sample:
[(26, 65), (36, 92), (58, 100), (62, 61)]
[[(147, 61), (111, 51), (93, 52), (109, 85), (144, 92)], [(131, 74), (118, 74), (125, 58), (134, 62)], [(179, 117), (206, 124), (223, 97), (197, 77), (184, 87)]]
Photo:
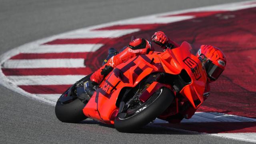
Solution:
[(59, 100), (55, 106), (56, 117), (62, 122), (77, 123), (85, 120), (87, 117), (83, 113), (86, 104), (79, 99), (75, 99), (70, 103), (62, 104)]

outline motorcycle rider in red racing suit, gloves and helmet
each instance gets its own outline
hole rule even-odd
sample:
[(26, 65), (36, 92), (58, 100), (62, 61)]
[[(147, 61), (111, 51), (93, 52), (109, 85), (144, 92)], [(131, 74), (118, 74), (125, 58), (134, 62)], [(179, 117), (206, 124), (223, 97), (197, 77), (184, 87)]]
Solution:
[[(164, 32), (161, 31), (154, 33), (152, 36), (152, 41), (163, 49), (166, 47), (172, 49), (180, 46), (176, 42), (167, 38)], [(150, 54), (152, 51), (154, 51), (154, 48), (148, 40), (137, 38), (131, 41), (130, 44), (124, 48), (124, 50), (122, 50), (119, 54), (112, 56), (112, 58), (110, 58), (106, 64), (104, 64), (90, 76), (90, 81), (88, 82), (88, 86), (86, 86), (88, 94), (92, 96), (96, 86), (100, 84), (104, 77), (108, 75), (108, 73), (110, 73), (118, 64), (126, 62), (134, 56)], [(220, 74), (224, 71), (226, 66), (226, 57), (220, 49), (208, 45), (202, 45), (196, 56), (202, 62), (202, 65), (207, 73), (207, 82), (204, 91), (204, 100), (206, 100), (210, 94), (209, 83), (217, 80)], [(196, 109), (194, 109), (188, 102), (185, 102), (181, 106), (181, 109), (182, 110), (178, 114), (167, 117), (166, 120), (168, 120), (170, 123), (177, 123), (183, 118), (191, 118), (196, 112)]]

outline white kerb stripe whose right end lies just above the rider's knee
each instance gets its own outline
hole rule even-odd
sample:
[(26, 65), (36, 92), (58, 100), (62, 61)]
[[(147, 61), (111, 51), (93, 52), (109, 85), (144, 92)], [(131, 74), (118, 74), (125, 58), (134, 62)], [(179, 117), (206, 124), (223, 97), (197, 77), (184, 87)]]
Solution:
[(88, 31), (78, 30), (74, 32), (68, 32), (65, 35), (60, 35), (58, 38), (118, 38), (126, 34), (138, 32), (140, 29), (126, 29), (126, 30), (100, 30), (100, 31)]

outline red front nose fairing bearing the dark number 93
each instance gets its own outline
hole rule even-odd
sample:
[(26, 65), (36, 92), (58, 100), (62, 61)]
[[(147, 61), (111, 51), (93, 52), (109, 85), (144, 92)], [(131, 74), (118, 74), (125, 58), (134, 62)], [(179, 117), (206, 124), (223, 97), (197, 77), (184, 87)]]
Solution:
[(172, 74), (174, 70), (180, 72), (183, 68), (190, 75), (191, 83), (184, 86), (180, 94), (185, 96), (196, 109), (204, 102), (203, 93), (207, 76), (200, 60), (192, 54), (192, 50), (188, 42), (183, 42), (179, 48), (168, 49), (166, 50), (168, 53), (162, 53), (160, 60), (166, 65), (164, 70), (167, 73)]

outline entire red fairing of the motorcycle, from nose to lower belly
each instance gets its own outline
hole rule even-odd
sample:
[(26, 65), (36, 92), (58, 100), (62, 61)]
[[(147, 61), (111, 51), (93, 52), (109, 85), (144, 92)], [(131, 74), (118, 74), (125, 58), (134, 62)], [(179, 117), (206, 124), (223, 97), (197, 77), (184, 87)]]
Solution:
[(191, 54), (190, 44), (183, 42), (179, 48), (136, 56), (116, 66), (94, 92), (83, 112), (90, 118), (113, 124), (114, 121), (110, 119), (113, 114), (117, 114), (116, 100), (122, 88), (133, 88), (154, 72), (178, 75), (182, 70), (186, 70), (191, 82), (180, 90), (180, 94), (187, 98), (194, 108), (198, 108), (204, 100), (202, 96), (206, 75), (200, 60)]

